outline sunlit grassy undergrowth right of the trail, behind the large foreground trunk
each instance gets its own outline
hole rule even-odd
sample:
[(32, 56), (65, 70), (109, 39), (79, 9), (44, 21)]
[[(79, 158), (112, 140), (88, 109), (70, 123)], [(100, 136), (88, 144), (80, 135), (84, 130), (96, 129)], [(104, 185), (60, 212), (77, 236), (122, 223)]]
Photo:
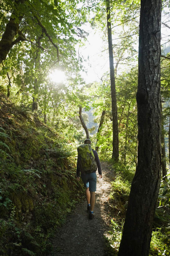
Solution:
[[(128, 206), (128, 197), (135, 168), (129, 168), (121, 163), (114, 163), (113, 168), (116, 172), (116, 177), (112, 182), (109, 199), (110, 213), (113, 218), (111, 218), (108, 241), (112, 247), (110, 255), (115, 256), (118, 253), (122, 237), (123, 224)], [(167, 177), (169, 177), (169, 174)], [(149, 256), (170, 255), (169, 195), (170, 178), (167, 178), (165, 182), (163, 180), (161, 182)]]

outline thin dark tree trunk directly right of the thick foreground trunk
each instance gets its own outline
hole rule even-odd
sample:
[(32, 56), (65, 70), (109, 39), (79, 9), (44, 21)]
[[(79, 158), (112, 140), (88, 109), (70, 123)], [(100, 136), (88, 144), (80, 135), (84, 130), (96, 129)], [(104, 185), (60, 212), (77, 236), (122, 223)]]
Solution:
[(161, 123), (162, 123), (162, 132), (161, 132), (161, 144), (162, 144), (162, 177), (165, 181), (167, 176), (167, 163), (166, 163), (166, 153), (165, 153), (165, 136), (163, 128), (163, 111), (162, 111), (162, 102), (161, 102)]

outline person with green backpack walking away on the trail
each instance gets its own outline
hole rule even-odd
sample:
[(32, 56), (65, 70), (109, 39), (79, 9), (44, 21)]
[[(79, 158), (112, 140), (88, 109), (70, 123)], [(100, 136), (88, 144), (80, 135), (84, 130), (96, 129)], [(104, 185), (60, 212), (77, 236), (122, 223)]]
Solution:
[(96, 171), (98, 168), (99, 178), (102, 178), (102, 169), (98, 153), (91, 148), (91, 140), (85, 139), (84, 144), (78, 147), (77, 159), (77, 180), (81, 178), (86, 188), (87, 210), (89, 211), (89, 219), (94, 218), (94, 205), (95, 205), (95, 191), (97, 176)]

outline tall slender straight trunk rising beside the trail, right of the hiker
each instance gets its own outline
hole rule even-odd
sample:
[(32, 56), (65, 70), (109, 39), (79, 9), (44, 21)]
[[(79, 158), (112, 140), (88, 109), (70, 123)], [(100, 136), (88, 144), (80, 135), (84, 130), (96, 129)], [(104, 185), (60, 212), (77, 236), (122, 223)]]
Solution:
[(113, 63), (113, 45), (112, 45), (112, 29), (110, 21), (110, 1), (106, 0), (107, 11), (107, 27), (108, 27), (108, 46), (109, 46), (109, 63), (110, 63), (110, 85), (112, 98), (112, 119), (113, 119), (113, 154), (112, 158), (118, 162), (119, 159), (119, 139), (118, 139), (118, 113), (116, 101), (116, 87)]

